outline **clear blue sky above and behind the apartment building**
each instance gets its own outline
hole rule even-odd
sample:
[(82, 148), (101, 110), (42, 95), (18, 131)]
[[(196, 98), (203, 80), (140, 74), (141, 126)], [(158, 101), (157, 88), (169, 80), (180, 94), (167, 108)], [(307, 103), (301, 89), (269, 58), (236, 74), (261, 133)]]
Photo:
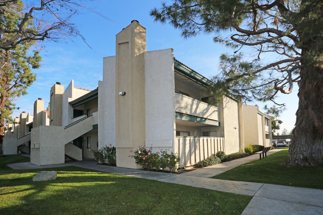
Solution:
[[(97, 0), (84, 1), (84, 5), (108, 18), (88, 10), (82, 10), (73, 18), (91, 48), (81, 38), (64, 40), (62, 43), (46, 42), (41, 51), (42, 67), (34, 70), (37, 80), (28, 88), (27, 95), (15, 99), (20, 110), (16, 110), (13, 117), (19, 116), (21, 111), (32, 114), (33, 103), (37, 98), (45, 101), (46, 108), (50, 88), (55, 82), (61, 82), (67, 87), (74, 79), (75, 86), (95, 89), (97, 81), (102, 80), (103, 57), (115, 55), (115, 35), (134, 19), (147, 29), (147, 51), (173, 48), (177, 60), (206, 77), (210, 78), (219, 72), (221, 54), (232, 53), (232, 50), (214, 43), (212, 34), (184, 39), (180, 36), (180, 30), (169, 24), (154, 22), (149, 12), (161, 6), (159, 0)], [(287, 105), (287, 110), (280, 117), (283, 121), (281, 129), (290, 131), (294, 127), (298, 107), (297, 91), (298, 87), (294, 86), (291, 95), (280, 94), (277, 99)], [(260, 110), (264, 106), (258, 101), (249, 104), (257, 104)]]

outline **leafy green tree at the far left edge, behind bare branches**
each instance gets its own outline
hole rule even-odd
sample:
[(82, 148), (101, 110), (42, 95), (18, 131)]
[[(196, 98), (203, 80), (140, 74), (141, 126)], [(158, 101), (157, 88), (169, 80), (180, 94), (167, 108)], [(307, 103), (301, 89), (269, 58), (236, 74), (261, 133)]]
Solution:
[[(30, 52), (34, 44), (32, 40), (22, 40), (17, 44), (19, 24), (23, 21), (23, 2), (0, 3), (0, 136), (3, 135), (5, 120), (10, 120), (14, 108), (12, 99), (26, 94), (26, 89), (36, 79), (31, 68), (40, 67), (41, 57), (39, 52)], [(20, 29), (28, 30), (26, 35), (36, 32), (32, 19), (27, 19), (21, 24)], [(13, 39), (14, 38), (14, 39)]]

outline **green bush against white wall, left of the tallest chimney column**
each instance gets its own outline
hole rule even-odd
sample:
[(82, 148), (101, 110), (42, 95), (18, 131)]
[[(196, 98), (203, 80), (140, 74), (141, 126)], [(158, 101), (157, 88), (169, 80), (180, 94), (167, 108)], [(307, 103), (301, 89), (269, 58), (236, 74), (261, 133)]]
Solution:
[(92, 152), (98, 163), (106, 163), (111, 166), (117, 165), (116, 148), (111, 146), (111, 144), (110, 147), (108, 145), (104, 145), (98, 151), (92, 150)]

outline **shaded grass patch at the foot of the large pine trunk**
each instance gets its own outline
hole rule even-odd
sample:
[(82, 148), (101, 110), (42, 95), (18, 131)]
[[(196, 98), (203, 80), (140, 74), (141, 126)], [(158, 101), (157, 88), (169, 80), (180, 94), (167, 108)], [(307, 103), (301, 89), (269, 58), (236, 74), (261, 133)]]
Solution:
[(323, 189), (323, 164), (315, 167), (279, 165), (287, 155), (288, 148), (285, 148), (265, 159), (254, 160), (212, 178)]

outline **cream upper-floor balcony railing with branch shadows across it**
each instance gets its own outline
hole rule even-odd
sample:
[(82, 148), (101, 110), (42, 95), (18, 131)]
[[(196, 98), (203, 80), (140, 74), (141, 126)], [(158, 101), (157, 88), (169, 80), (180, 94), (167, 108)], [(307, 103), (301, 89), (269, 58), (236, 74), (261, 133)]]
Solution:
[(211, 120), (219, 120), (218, 107), (178, 93), (175, 93), (175, 111)]

